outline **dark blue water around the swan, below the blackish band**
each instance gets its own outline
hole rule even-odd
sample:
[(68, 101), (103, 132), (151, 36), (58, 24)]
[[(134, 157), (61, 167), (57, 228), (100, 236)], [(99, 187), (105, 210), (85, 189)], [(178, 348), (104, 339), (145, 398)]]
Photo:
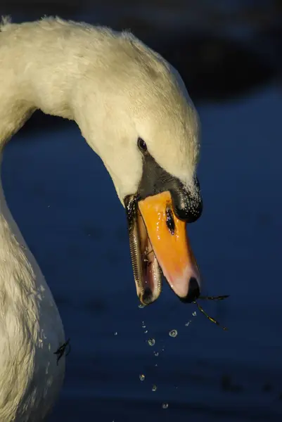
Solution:
[(281, 110), (271, 87), (199, 108), (205, 210), (188, 231), (206, 293), (231, 295), (202, 304), (227, 332), (168, 288), (139, 309), (124, 210), (75, 124), (8, 144), (6, 198), (72, 344), (51, 422), (281, 421)]

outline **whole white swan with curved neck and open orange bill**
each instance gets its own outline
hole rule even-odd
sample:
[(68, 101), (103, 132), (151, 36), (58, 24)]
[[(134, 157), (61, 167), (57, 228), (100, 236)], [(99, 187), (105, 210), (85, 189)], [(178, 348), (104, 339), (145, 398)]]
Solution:
[[(140, 300), (158, 298), (160, 267), (195, 300), (186, 222), (202, 208), (198, 117), (177, 71), (127, 32), (55, 18), (0, 29), (1, 150), (38, 108), (75, 120), (127, 211)], [(63, 383), (63, 324), (3, 193), (0, 264), (0, 421), (43, 421)]]

